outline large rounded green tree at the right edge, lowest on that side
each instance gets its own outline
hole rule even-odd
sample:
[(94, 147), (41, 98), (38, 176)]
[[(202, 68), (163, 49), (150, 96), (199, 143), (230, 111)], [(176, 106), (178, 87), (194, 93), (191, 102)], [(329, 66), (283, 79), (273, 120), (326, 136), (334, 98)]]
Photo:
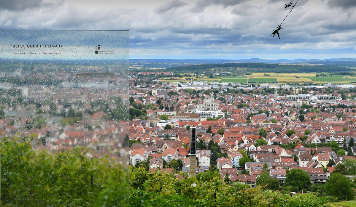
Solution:
[(333, 172), (329, 181), (325, 183), (325, 192), (340, 200), (353, 200), (355, 198), (355, 185), (352, 184), (349, 177)]

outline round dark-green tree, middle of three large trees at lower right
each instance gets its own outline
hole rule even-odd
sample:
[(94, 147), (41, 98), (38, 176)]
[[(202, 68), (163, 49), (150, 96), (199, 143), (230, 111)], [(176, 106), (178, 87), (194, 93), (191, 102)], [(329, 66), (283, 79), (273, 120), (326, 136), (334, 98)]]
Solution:
[(287, 170), (286, 180), (284, 186), (295, 186), (301, 191), (303, 189), (309, 189), (311, 182), (307, 172), (302, 169), (290, 169)]

